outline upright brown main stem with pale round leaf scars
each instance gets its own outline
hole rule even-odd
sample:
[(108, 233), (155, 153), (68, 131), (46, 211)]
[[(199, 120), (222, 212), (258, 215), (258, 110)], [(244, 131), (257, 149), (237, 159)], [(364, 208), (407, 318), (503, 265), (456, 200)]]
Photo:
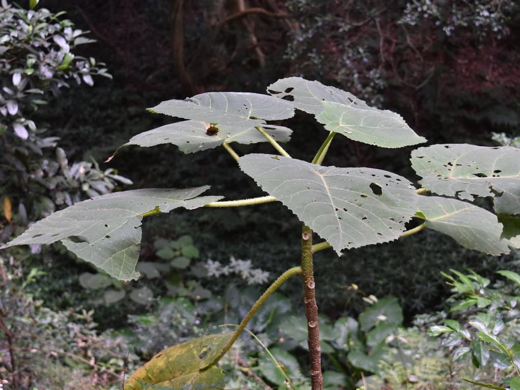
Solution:
[(320, 327), (313, 270), (313, 231), (306, 225), (302, 228), (302, 280), (305, 316), (307, 317), (307, 344), (309, 346), (310, 380), (313, 390), (323, 389), (321, 374)]

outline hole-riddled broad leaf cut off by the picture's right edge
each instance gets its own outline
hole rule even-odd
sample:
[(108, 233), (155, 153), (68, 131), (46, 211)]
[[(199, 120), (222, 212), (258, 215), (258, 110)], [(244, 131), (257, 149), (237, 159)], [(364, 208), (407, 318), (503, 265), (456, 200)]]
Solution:
[(520, 215), (520, 149), (432, 145), (414, 150), (411, 162), (432, 192), (470, 201), (494, 196), (497, 214)]

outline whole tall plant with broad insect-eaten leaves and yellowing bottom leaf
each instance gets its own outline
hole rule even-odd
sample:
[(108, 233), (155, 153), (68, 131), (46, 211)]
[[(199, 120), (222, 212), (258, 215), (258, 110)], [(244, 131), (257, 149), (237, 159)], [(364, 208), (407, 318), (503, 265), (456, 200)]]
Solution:
[[(78, 257), (112, 277), (130, 281), (139, 277), (136, 263), (145, 217), (178, 207), (265, 207), (279, 201), (300, 218), (301, 264), (270, 285), (235, 331), (205, 335), (163, 350), (128, 378), (126, 390), (224, 387), (218, 361), (267, 298), (296, 275), (303, 284), (310, 381), (314, 390), (321, 389), (315, 253), (332, 248), (341, 255), (346, 249), (397, 240), (424, 228), (491, 255), (509, 253), (520, 245), (519, 149), (466, 144), (421, 147), (411, 156), (412, 168), (422, 177), (417, 187), (392, 172), (322, 166), (336, 134), (383, 148), (417, 145), (426, 139), (397, 113), (369, 107), (352, 94), (317, 81), (289, 77), (270, 85), (267, 92), (270, 96), (217, 92), (164, 101), (150, 111), (185, 121), (136, 135), (126, 144), (174, 144), (185, 153), (223, 147), (267, 196), (232, 201), (201, 196), (209, 186), (106, 194), (40, 220), (3, 246), (61, 240)], [(291, 118), (295, 109), (315, 115), (329, 132), (310, 162), (291, 158), (280, 146), (279, 142), (289, 141), (291, 129), (266, 123)], [(240, 157), (231, 146), (261, 141), (268, 141), (277, 154)], [(482, 197), (493, 199), (496, 214), (470, 203)], [(313, 232), (323, 241), (313, 243)], [(380, 316), (366, 318), (372, 326), (381, 320)]]

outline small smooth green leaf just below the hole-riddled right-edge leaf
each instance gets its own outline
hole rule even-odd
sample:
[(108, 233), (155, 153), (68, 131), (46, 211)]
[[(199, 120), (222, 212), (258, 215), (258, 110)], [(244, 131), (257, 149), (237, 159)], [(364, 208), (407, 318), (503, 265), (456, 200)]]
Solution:
[(426, 227), (450, 236), (464, 248), (491, 255), (509, 253), (510, 241), (500, 237), (502, 224), (482, 207), (457, 199), (421, 196), (419, 211)]

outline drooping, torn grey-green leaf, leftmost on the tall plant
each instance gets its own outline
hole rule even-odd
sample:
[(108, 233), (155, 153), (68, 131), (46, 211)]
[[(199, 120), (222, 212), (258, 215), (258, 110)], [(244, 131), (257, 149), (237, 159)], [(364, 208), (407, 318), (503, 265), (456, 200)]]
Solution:
[(199, 194), (209, 186), (191, 189), (142, 189), (114, 192), (58, 211), (0, 247), (50, 244), (62, 240), (69, 251), (120, 280), (139, 277), (135, 271), (141, 242), (142, 214), (196, 209), (222, 197)]

